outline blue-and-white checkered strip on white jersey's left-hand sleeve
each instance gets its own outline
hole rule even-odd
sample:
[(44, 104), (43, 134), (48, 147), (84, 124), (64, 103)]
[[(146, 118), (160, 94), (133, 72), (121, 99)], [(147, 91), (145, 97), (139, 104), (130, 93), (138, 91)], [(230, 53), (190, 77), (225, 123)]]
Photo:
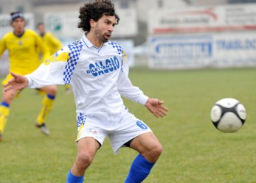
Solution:
[(70, 84), (71, 76), (75, 70), (75, 65), (77, 65), (77, 60), (80, 57), (80, 52), (82, 50), (82, 42), (80, 40), (75, 41), (68, 45), (69, 47), (69, 60), (67, 60), (67, 65), (65, 66), (65, 71), (63, 72), (63, 80), (65, 84)]

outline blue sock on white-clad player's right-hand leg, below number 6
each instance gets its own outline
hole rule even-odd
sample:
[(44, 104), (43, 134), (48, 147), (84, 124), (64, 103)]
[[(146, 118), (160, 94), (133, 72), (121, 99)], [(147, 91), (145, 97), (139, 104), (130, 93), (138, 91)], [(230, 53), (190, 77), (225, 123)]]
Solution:
[(147, 178), (151, 168), (155, 163), (149, 162), (145, 157), (139, 154), (131, 164), (130, 172), (125, 179), (125, 183), (140, 183)]

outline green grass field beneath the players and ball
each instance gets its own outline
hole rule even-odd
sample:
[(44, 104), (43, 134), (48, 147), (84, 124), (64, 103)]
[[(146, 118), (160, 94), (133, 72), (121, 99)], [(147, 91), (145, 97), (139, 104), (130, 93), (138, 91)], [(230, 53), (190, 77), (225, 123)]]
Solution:
[[(130, 71), (134, 85), (160, 98), (169, 108), (155, 118), (145, 107), (125, 99), (126, 107), (148, 123), (164, 146), (147, 183), (256, 182), (256, 68), (196, 71)], [(47, 126), (49, 137), (35, 129), (42, 96), (26, 89), (11, 105), (9, 123), (0, 143), (1, 183), (66, 182), (76, 154), (75, 104), (64, 87)], [(246, 107), (246, 123), (235, 133), (219, 132), (210, 110), (221, 98), (236, 98)], [(122, 148), (115, 155), (108, 139), (86, 171), (85, 182), (124, 182), (136, 152)]]

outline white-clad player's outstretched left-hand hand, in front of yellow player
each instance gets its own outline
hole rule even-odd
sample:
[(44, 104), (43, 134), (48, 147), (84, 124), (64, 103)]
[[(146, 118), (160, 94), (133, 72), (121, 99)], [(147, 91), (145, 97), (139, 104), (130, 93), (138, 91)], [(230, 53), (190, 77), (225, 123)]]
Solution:
[(6, 85), (4, 85), (4, 92), (13, 90), (13, 95), (15, 95), (15, 93), (18, 90), (21, 90), (24, 87), (27, 87), (28, 81), (25, 76), (21, 76), (19, 74), (15, 74), (12, 72), (10, 74), (13, 76), (13, 78), (10, 79), (10, 81)]

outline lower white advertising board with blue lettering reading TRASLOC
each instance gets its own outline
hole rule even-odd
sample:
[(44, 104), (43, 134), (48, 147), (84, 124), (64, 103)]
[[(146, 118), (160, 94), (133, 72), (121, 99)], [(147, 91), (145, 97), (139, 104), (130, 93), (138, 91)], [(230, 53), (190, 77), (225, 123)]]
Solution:
[(256, 32), (153, 35), (149, 43), (149, 67), (153, 69), (256, 66)]

